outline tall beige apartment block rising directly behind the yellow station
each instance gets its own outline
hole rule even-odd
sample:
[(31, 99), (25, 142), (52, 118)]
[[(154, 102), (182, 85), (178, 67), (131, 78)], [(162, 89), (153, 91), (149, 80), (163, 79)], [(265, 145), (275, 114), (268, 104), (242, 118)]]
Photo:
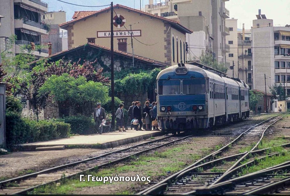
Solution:
[(181, 25), (193, 30), (186, 35), (188, 45), (187, 61), (195, 60), (203, 52), (212, 52), (221, 63), (225, 63), (226, 36), (230, 35), (226, 26), (229, 11), (225, 8), (228, 0), (165, 0), (145, 6), (144, 11), (157, 16), (179, 21)]

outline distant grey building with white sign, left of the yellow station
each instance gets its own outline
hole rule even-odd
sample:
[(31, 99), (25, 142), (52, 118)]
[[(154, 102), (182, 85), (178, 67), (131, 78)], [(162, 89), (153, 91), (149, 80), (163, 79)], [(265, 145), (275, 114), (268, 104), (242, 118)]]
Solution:
[(58, 26), (66, 22), (66, 12), (62, 10), (46, 12), (44, 22), (50, 24), (50, 31), (48, 35), (42, 35), (42, 44), (47, 45), (50, 42), (52, 54), (67, 50), (67, 30)]

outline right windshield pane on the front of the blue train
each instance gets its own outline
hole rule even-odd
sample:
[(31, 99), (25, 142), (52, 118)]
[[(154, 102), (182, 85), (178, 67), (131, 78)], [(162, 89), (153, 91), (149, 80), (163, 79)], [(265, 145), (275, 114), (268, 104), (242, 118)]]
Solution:
[(205, 79), (183, 79), (182, 80), (182, 94), (194, 95), (206, 93)]

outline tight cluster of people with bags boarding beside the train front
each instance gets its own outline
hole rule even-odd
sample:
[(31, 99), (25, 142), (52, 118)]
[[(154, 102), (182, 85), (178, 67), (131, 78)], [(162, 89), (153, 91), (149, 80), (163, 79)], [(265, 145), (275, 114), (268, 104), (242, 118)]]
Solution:
[(155, 121), (157, 117), (157, 102), (150, 103), (150, 99), (147, 99), (142, 109), (140, 101), (133, 101), (129, 107), (128, 115), (130, 119), (138, 120), (137, 125), (131, 123), (131, 128), (134, 127), (136, 131), (144, 129), (150, 131), (152, 127), (153, 130), (159, 131), (158, 126), (152, 126), (152, 121)]

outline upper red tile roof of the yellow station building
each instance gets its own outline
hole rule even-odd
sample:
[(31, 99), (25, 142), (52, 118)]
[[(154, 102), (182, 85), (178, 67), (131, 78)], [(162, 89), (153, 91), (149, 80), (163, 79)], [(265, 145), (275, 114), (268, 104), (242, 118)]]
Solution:
[[(130, 7), (127, 7), (127, 6), (123, 6), (123, 5), (120, 5), (120, 4), (116, 4), (116, 5), (114, 5), (113, 7), (114, 7), (114, 8), (118, 8), (118, 7), (120, 7), (120, 8), (128, 9), (128, 10), (130, 10), (130, 11), (134, 11), (134, 12), (137, 12), (137, 13), (140, 13), (140, 14), (144, 14), (144, 15), (146, 15), (146, 16), (150, 16), (150, 17), (152, 17), (152, 18), (157, 18), (157, 19), (160, 19), (160, 20), (163, 20), (163, 21), (167, 21), (168, 23), (172, 24), (173, 27), (178, 28), (178, 29), (182, 30), (182, 31), (185, 32), (185, 33), (192, 33), (192, 30), (189, 30), (189, 29), (185, 28), (184, 26), (182, 26), (182, 25), (181, 25), (180, 23), (178, 23), (177, 21), (173, 21), (173, 20), (170, 20), (170, 19), (168, 19), (168, 18), (164, 18), (164, 17), (161, 17), (161, 16), (156, 16), (156, 15), (154, 15), (154, 14), (147, 13), (147, 12), (144, 12), (144, 11), (140, 11), (140, 10), (137, 10), (137, 9), (134, 9), (134, 8), (130, 8)], [(95, 12), (92, 12), (92, 13), (88, 13), (88, 12), (85, 12), (85, 11), (81, 11), (81, 13), (79, 13), (79, 14), (76, 14), (76, 13), (75, 13), (74, 16), (75, 16), (75, 15), (77, 16), (76, 19), (71, 20), (71, 21), (68, 21), (68, 22), (65, 22), (65, 23), (62, 23), (62, 24), (59, 24), (59, 27), (64, 28), (64, 27), (65, 27), (66, 25), (68, 25), (68, 24), (71, 24), (71, 23), (74, 23), (74, 22), (80, 21), (80, 20), (82, 20), (82, 19), (85, 19), (85, 18), (91, 17), (91, 16), (93, 16), (93, 15), (95, 15), (95, 14), (102, 13), (102, 12), (104, 12), (104, 11), (108, 11), (109, 9), (110, 9), (110, 7), (108, 7), (108, 8), (104, 8), (104, 9), (101, 9), (101, 10), (99, 10), (99, 11), (95, 11)], [(86, 15), (86, 13), (88, 13), (88, 15)], [(73, 17), (74, 17), (74, 16), (73, 16)]]

